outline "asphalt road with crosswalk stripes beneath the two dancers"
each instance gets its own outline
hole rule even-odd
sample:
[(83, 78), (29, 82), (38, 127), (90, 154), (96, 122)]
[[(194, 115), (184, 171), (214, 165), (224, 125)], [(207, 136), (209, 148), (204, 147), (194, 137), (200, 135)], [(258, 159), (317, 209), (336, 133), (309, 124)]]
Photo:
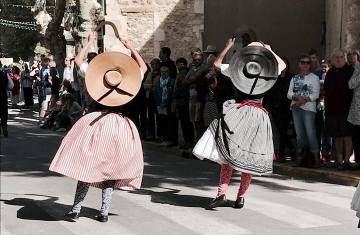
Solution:
[(9, 136), (1, 136), (1, 235), (7, 234), (360, 234), (349, 209), (354, 187), (254, 176), (245, 206), (231, 203), (240, 181), (235, 173), (229, 203), (206, 210), (216, 194), (220, 166), (144, 144), (142, 188), (116, 190), (109, 220), (96, 221), (101, 190), (90, 188), (80, 218), (62, 214), (72, 205), (76, 180), (48, 171), (62, 133), (42, 130), (32, 110), (12, 110)]

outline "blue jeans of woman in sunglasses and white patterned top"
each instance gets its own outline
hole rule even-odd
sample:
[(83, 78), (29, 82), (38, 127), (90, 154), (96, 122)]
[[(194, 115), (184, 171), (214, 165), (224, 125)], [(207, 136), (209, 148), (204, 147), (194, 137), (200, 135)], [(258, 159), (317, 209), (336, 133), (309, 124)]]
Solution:
[(310, 152), (319, 151), (315, 131), (315, 114), (315, 112), (299, 107), (292, 108), (298, 151), (301, 151), (306, 143), (309, 145)]

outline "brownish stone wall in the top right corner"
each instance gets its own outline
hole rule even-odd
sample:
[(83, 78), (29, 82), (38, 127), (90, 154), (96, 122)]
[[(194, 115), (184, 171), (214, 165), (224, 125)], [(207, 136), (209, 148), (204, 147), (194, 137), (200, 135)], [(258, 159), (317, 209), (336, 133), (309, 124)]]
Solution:
[(334, 48), (360, 49), (360, 0), (325, 0), (325, 22), (326, 58)]

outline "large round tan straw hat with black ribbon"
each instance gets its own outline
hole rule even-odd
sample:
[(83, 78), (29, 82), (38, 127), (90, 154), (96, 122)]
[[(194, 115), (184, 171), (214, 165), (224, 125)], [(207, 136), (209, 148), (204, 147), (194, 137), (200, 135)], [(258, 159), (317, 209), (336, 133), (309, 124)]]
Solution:
[(140, 89), (140, 68), (124, 53), (104, 52), (89, 63), (85, 84), (89, 95), (100, 104), (119, 106), (135, 97)]

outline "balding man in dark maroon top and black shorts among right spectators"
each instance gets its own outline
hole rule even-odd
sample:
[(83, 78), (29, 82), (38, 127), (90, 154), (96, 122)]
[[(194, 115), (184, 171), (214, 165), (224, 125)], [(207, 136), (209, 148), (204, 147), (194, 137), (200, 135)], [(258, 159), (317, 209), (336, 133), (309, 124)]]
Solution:
[(325, 128), (333, 138), (336, 151), (336, 161), (327, 166), (337, 166), (338, 169), (349, 169), (351, 147), (351, 124), (347, 121), (352, 90), (348, 81), (354, 71), (351, 65), (346, 64), (345, 54), (341, 49), (334, 49), (331, 54), (333, 66), (327, 71), (323, 84), (325, 97)]

